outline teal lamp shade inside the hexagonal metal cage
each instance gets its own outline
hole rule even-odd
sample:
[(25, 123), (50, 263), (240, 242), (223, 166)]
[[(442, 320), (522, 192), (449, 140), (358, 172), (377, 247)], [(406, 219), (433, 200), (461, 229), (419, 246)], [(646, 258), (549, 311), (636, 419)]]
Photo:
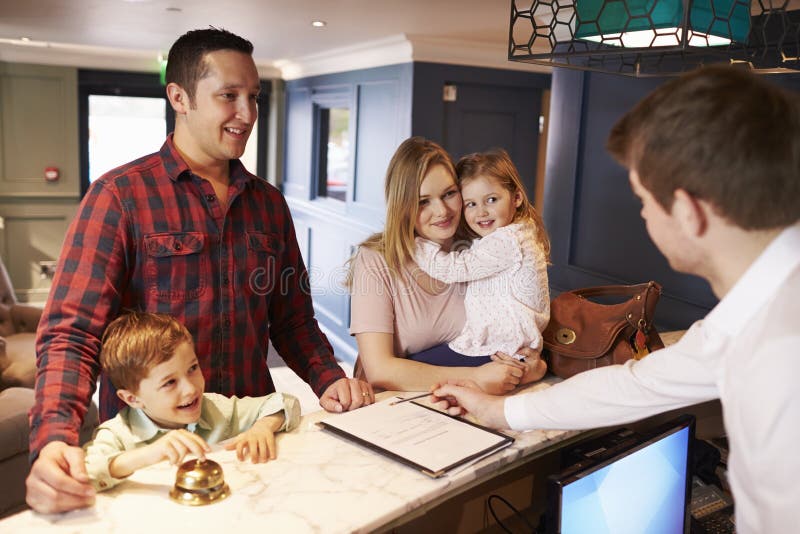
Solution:
[[(689, 2), (690, 46), (746, 43), (747, 0)], [(682, 0), (576, 0), (575, 38), (626, 48), (676, 46), (683, 32)]]

